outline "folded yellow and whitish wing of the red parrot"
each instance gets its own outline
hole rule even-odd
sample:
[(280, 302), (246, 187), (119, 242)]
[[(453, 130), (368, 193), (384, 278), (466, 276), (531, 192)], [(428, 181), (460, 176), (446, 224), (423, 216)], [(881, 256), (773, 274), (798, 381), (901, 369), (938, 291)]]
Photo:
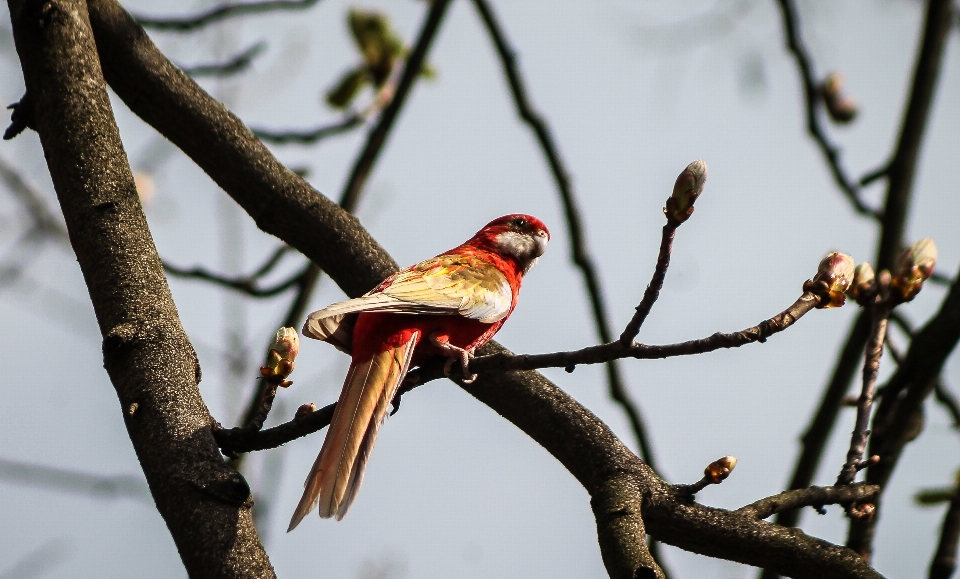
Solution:
[(476, 257), (441, 255), (395, 273), (365, 296), (313, 312), (303, 333), (344, 349), (341, 345), (348, 347), (350, 342), (342, 326), (350, 314), (461, 315), (494, 323), (512, 306), (510, 282), (496, 266)]

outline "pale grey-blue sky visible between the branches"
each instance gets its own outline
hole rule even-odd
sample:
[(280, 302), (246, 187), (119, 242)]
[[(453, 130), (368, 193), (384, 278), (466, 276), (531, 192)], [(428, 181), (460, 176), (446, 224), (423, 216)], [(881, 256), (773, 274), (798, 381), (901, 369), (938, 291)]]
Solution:
[[(209, 3), (127, 5), (174, 15)], [(307, 11), (232, 19), (193, 34), (150, 34), (183, 65), (223, 60), (266, 41), (266, 53), (248, 72), (201, 84), (251, 126), (306, 128), (339, 118), (322, 94), (359, 58), (345, 21), (356, 5), (387, 12), (408, 41), (426, 10), (422, 2), (325, 0)], [(751, 326), (790, 305), (825, 252), (873, 258), (874, 227), (842, 198), (804, 132), (799, 77), (773, 1), (498, 1), (495, 8), (519, 53), (530, 97), (573, 175), (618, 332), (652, 272), (663, 202), (676, 175), (697, 158), (709, 165), (706, 192), (678, 233), (664, 290), (640, 340), (669, 343)], [(830, 129), (844, 164), (859, 176), (887, 157), (899, 129), (922, 5), (803, 1), (800, 12), (817, 71), (842, 70), (861, 103), (855, 123)], [(938, 268), (951, 276), (960, 264), (957, 36), (948, 44), (907, 228), (910, 240), (937, 241)], [(497, 339), (517, 352), (595, 343), (553, 181), (518, 122), (470, 3), (454, 3), (429, 60), (438, 76), (414, 88), (364, 193), (361, 221), (399, 263), (410, 264), (459, 244), (499, 215), (537, 215), (552, 243)], [(23, 81), (6, 11), (0, 79), (0, 102), (18, 100)], [(156, 184), (147, 216), (160, 254), (227, 273), (261, 263), (276, 240), (119, 100), (114, 106), (133, 168)], [(336, 198), (363, 135), (273, 149), (288, 166), (308, 168), (309, 181)], [(35, 133), (3, 142), (0, 156), (56, 208)], [(867, 195), (877, 202), (882, 192), (878, 184)], [(22, 216), (0, 186), (4, 259), (23, 233)], [(288, 258), (271, 279), (299, 263)], [(200, 356), (201, 392), (217, 419), (233, 423), (289, 297), (245, 301), (177, 279), (171, 287)], [(943, 295), (942, 287), (928, 285), (904, 311), (922, 322)], [(342, 297), (324, 279), (310, 309)], [(736, 508), (782, 490), (854, 310), (812, 312), (763, 345), (625, 362), (660, 474), (693, 482), (707, 463), (732, 454), (740, 460), (734, 474), (698, 494), (699, 501)], [(102, 369), (75, 258), (45, 246), (22, 275), (0, 283), (0, 326), (7, 376), (0, 386), (0, 459), (142, 480)], [(228, 356), (246, 366), (231, 370)], [(280, 393), (271, 423), (289, 419), (303, 402), (334, 401), (346, 366), (332, 347), (305, 341), (294, 386)], [(881, 368), (881, 378), (890, 367)], [(600, 367), (545, 374), (634, 447)], [(960, 388), (956, 356), (946, 375)], [(295, 532), (283, 532), (322, 434), (250, 461), (255, 494), (269, 496), (271, 510), (259, 526), (280, 577), (605, 576), (589, 497), (547, 452), (452, 383), (433, 382), (404, 400), (381, 430), (363, 490), (342, 522), (311, 516)], [(852, 423), (853, 411), (845, 412), (816, 484), (836, 478)], [(908, 447), (886, 494), (875, 559), (886, 576), (926, 573), (943, 508), (917, 507), (911, 497), (919, 487), (951, 483), (960, 466), (958, 443), (947, 414), (929, 404), (926, 430)], [(184, 574), (149, 499), (90, 497), (20, 484), (6, 473), (0, 471), (0, 578)], [(847, 525), (842, 510), (830, 507), (826, 516), (808, 509), (803, 527), (842, 543)], [(14, 569), (18, 561), (26, 567)], [(680, 578), (755, 573), (669, 547), (665, 562)]]

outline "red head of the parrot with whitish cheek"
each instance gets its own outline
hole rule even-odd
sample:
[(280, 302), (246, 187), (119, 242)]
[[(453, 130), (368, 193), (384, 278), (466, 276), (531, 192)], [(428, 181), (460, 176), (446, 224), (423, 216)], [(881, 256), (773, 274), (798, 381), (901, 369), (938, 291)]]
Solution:
[(543, 255), (550, 241), (547, 226), (532, 215), (515, 213), (486, 224), (466, 243), (510, 257), (526, 273)]

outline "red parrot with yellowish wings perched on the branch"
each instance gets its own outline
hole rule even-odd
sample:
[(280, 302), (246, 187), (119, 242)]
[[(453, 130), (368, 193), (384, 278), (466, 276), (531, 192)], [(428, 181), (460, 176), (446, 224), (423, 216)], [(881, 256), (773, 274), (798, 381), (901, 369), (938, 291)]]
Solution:
[(352, 356), (343, 391), (290, 520), (318, 504), (322, 518), (347, 514), (363, 481), (377, 431), (407, 371), (435, 356), (469, 360), (517, 305), (520, 280), (547, 247), (550, 233), (529, 215), (494, 219), (466, 243), (401, 270), (363, 297), (313, 312), (303, 335)]

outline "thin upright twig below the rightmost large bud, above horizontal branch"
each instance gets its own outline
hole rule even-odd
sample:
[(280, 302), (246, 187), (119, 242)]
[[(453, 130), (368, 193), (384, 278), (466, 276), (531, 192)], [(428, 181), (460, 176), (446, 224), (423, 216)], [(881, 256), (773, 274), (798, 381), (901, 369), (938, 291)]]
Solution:
[(889, 308), (886, 305), (875, 305), (870, 308), (870, 339), (867, 341), (866, 356), (863, 363), (863, 389), (857, 401), (857, 419), (850, 437), (850, 450), (847, 451), (847, 461), (837, 476), (837, 486), (853, 483), (857, 476), (858, 467), (863, 459), (863, 451), (867, 447), (867, 437), (870, 435), (870, 410), (873, 407), (873, 390), (877, 384), (877, 373), (880, 370), (880, 356), (883, 355), (883, 341), (887, 335), (887, 316)]

